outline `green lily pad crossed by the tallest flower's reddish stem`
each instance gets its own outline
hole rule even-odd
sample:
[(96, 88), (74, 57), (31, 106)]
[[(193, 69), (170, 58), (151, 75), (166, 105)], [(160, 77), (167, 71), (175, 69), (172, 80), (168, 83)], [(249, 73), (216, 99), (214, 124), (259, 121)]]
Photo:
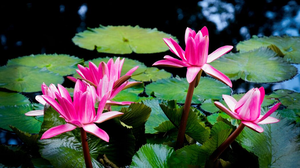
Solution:
[[(151, 95), (154, 92), (159, 99), (177, 100), (178, 103), (184, 103), (188, 86), (186, 78), (162, 79), (146, 85), (146, 94)], [(194, 90), (192, 103), (199, 104), (208, 99), (220, 100), (222, 94), (230, 93), (229, 86), (222, 82), (211, 77), (201, 77), (198, 87)]]

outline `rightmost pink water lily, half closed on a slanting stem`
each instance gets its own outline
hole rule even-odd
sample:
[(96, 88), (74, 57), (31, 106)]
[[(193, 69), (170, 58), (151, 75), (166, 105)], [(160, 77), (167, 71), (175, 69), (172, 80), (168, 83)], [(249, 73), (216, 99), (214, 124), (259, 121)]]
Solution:
[(270, 117), (281, 103), (275, 104), (265, 115), (260, 115), (260, 106), (265, 97), (265, 89), (263, 87), (253, 88), (249, 90), (238, 102), (229, 95), (223, 94), (223, 99), (229, 107), (227, 109), (220, 102), (214, 102), (220, 110), (228, 114), (230, 117), (241, 120), (241, 123), (256, 132), (263, 132), (263, 128), (257, 124), (277, 123), (280, 120)]

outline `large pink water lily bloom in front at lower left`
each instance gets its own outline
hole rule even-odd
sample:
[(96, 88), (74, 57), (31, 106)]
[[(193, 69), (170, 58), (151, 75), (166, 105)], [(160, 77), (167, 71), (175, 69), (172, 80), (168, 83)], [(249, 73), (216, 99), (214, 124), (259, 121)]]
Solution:
[(91, 133), (105, 141), (109, 141), (107, 133), (100, 129), (95, 123), (102, 123), (114, 117), (122, 115), (121, 112), (102, 113), (110, 93), (106, 93), (100, 100), (97, 114), (95, 112), (96, 90), (93, 86), (84, 85), (80, 80), (76, 81), (73, 101), (66, 88), (58, 84), (58, 93), (55, 93), (58, 102), (50, 96), (42, 95), (46, 103), (50, 104), (64, 118), (66, 124), (48, 129), (41, 139), (54, 137), (58, 134), (72, 131), (82, 127), (86, 132)]

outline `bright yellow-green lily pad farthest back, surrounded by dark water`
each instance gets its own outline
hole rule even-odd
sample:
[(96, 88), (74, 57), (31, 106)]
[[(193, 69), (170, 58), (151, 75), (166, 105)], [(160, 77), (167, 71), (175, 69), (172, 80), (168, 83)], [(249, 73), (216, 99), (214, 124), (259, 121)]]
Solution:
[(101, 53), (138, 54), (159, 53), (169, 49), (163, 38), (175, 37), (156, 28), (139, 26), (102, 26), (77, 33), (73, 42), (81, 48), (97, 49)]

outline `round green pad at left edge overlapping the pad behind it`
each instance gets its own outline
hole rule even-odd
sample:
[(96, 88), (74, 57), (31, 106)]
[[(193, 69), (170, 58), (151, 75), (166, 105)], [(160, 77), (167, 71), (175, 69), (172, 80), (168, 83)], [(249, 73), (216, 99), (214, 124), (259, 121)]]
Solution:
[[(8, 75), (9, 74), (9, 75)], [(46, 68), (21, 65), (0, 67), (0, 87), (18, 92), (41, 91), (41, 84), (63, 83), (64, 78)]]

